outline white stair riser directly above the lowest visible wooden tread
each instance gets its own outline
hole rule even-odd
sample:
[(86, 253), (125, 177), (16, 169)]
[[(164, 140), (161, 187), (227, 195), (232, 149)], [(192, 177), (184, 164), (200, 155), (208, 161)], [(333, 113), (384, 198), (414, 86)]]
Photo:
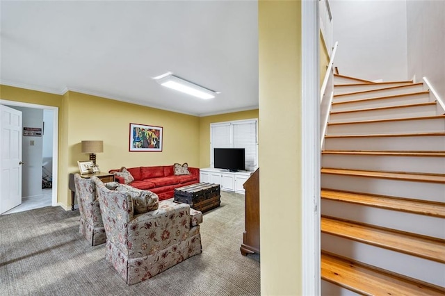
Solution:
[(321, 234), (321, 249), (437, 286), (445, 286), (445, 265), (441, 263), (326, 233)]

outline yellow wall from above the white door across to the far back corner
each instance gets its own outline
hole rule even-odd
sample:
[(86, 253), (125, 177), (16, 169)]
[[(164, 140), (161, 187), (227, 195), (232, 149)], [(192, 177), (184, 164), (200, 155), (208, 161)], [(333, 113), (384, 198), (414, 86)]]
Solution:
[[(104, 153), (97, 164), (104, 172), (121, 166), (200, 165), (200, 118), (128, 104), (78, 92), (63, 95), (1, 85), (0, 98), (59, 107), (58, 202), (70, 208), (68, 174), (78, 172), (81, 140), (103, 140)], [(162, 152), (129, 152), (129, 124), (163, 126)]]

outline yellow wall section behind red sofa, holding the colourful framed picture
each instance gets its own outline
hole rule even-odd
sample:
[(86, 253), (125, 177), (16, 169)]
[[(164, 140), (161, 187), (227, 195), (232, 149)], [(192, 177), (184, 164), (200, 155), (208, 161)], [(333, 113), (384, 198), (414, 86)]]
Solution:
[[(81, 140), (103, 140), (104, 152), (97, 154), (97, 165), (103, 172), (125, 167), (199, 165), (199, 118), (104, 99), (79, 92), (69, 92), (68, 172), (79, 171), (77, 161), (88, 160), (81, 153)], [(129, 124), (163, 127), (163, 151), (130, 152)]]

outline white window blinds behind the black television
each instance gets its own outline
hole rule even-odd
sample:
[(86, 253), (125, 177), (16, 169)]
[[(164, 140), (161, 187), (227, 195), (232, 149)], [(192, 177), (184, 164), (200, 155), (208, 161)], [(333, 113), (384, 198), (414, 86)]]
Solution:
[(244, 148), (245, 169), (258, 167), (257, 120), (239, 120), (210, 124), (210, 163), (213, 148)]

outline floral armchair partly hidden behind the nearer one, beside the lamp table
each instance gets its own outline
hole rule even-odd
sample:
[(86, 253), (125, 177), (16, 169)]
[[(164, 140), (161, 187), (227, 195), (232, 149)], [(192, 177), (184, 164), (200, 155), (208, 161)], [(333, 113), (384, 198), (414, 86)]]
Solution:
[(74, 174), (74, 186), (81, 216), (79, 232), (92, 246), (101, 245), (105, 242), (106, 235), (99, 210), (95, 182), (92, 179), (84, 179), (79, 174)]

